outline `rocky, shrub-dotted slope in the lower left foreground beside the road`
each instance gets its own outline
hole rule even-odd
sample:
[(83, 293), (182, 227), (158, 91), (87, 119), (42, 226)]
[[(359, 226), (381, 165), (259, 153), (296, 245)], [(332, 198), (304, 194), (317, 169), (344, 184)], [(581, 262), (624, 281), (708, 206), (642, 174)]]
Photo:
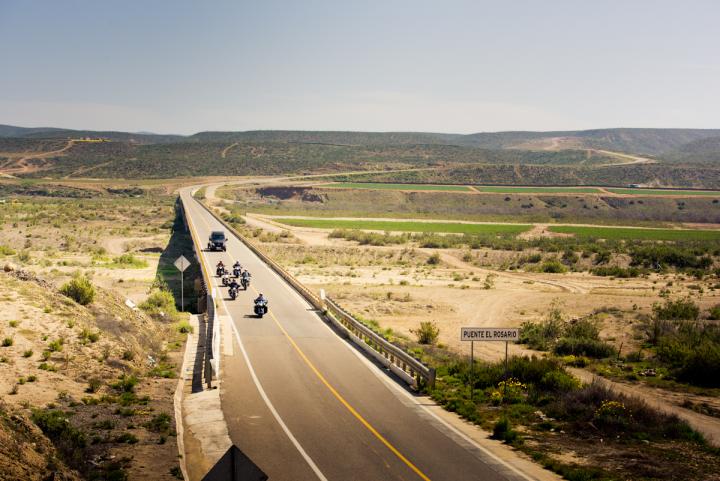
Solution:
[(11, 265), (0, 299), (0, 480), (175, 479), (172, 316), (98, 288), (81, 305)]

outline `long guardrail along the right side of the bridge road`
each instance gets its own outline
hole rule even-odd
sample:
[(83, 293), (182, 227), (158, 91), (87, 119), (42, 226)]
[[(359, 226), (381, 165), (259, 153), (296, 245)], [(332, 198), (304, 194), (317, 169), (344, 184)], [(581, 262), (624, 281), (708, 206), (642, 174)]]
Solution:
[(355, 319), (332, 299), (326, 298), (324, 301), (320, 299), (319, 296), (305, 287), (292, 274), (262, 252), (252, 241), (213, 212), (205, 203), (199, 201), (198, 203), (290, 284), (315, 309), (323, 312), (336, 327), (344, 332), (348, 338), (361, 349), (414, 388), (425, 386), (432, 389), (435, 387), (435, 368), (424, 365), (395, 344), (392, 344), (374, 332), (365, 324)]

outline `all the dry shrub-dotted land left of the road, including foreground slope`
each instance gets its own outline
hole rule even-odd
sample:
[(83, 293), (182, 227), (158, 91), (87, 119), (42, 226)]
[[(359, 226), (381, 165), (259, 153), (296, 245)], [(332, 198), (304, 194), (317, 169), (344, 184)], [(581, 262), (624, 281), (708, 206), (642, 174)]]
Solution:
[(42, 463), (27, 446), (5, 463), (2, 443), (5, 473), (176, 479), (172, 392), (187, 321), (169, 294), (186, 253), (171, 231), (174, 198), (117, 183), (23, 185), (35, 194), (0, 203), (0, 436), (21, 440), (35, 424)]

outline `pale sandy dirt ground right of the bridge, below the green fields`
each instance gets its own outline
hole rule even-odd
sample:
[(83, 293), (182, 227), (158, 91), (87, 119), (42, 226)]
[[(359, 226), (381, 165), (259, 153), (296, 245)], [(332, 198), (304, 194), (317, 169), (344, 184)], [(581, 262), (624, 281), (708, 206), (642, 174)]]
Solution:
[[(408, 338), (414, 337), (411, 330), (420, 322), (433, 321), (440, 328), (440, 344), (462, 355), (469, 355), (469, 346), (460, 341), (461, 327), (520, 327), (524, 321), (542, 320), (552, 306), (559, 306), (567, 320), (594, 316), (603, 339), (629, 353), (640, 348), (641, 319), (652, 314), (653, 304), (664, 300), (663, 289), (673, 297), (692, 296), (703, 310), (720, 304), (720, 292), (712, 280), (674, 274), (615, 279), (586, 272), (508, 271), (493, 266), (517, 253), (479, 250), (471, 263), (463, 260), (467, 251), (459, 249), (358, 246), (329, 238), (328, 231), (281, 227), (263, 216), (248, 215), (246, 221), (273, 234), (291, 234), (283, 243), (269, 242), (263, 248), (306, 285), (324, 289), (350, 312)], [(440, 263), (428, 266), (433, 253), (439, 253)], [(483, 260), (482, 267), (477, 265), (478, 258)], [(701, 295), (698, 289), (703, 290)], [(540, 354), (514, 344), (509, 353)], [(504, 354), (503, 343), (476, 343), (476, 358), (495, 361)], [(588, 371), (577, 374), (592, 380)], [(720, 444), (720, 419), (683, 407), (691, 402), (720, 410), (717, 397), (638, 383), (616, 385), (682, 415)]]

